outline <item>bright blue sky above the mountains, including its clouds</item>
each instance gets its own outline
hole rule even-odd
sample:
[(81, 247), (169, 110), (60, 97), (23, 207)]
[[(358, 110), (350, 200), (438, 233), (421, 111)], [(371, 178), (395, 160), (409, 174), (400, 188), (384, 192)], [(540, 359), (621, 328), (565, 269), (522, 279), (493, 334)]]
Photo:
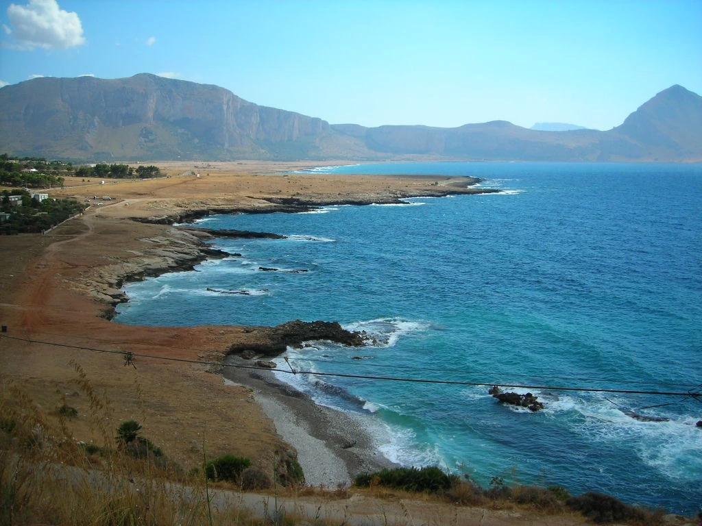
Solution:
[(702, 0), (15, 0), (0, 25), (0, 85), (148, 72), (331, 123), (606, 130), (702, 94)]

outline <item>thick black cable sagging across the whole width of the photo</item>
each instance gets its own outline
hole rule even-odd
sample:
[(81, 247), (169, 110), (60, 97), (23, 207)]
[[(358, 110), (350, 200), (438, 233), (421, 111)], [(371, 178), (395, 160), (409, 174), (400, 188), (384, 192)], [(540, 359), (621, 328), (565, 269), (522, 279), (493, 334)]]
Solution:
[[(93, 351), (99, 353), (111, 353), (120, 354), (122, 356), (131, 356), (133, 358), (153, 358), (156, 360), (168, 360), (181, 363), (197, 363), (199, 365), (216, 365), (218, 367), (234, 367), (238, 369), (249, 369), (249, 370), (260, 370), (269, 371), (267, 367), (257, 367), (253, 365), (234, 365), (222, 362), (211, 362), (206, 360), (190, 360), (188, 358), (172, 358), (168, 356), (152, 356), (148, 354), (137, 354), (129, 353), (128, 351), (111, 351), (108, 349), (95, 349), (93, 347), (68, 345), (68, 344), (58, 344), (55, 342), (43, 342), (41, 340), (33, 340), (28, 338), (19, 338), (8, 335), (0, 335), (1, 337), (8, 339), (15, 339), (20, 342), (34, 343), (34, 344), (44, 344), (65, 347), (67, 349), (78, 349), (81, 351)], [(370, 376), (370, 375), (349, 375), (338, 372), (312, 372), (312, 371), (287, 371), (284, 369), (279, 369), (277, 372), (284, 372), (289, 375), (314, 375), (314, 376), (324, 376), (324, 377), (340, 377), (340, 378), (355, 378), (355, 379), (369, 379), (369, 380), (384, 380), (390, 382), (414, 382), (420, 384), (445, 384), (445, 385), (464, 385), (464, 386), (502, 386), (502, 387), (512, 387), (516, 389), (548, 389), (550, 391), (581, 391), (590, 393), (622, 393), (622, 394), (647, 394), (647, 395), (658, 395), (658, 396), (689, 396), (698, 400), (698, 397), (702, 396), (702, 392), (693, 392), (689, 390), (687, 392), (677, 392), (677, 391), (642, 391), (633, 389), (597, 389), (592, 387), (562, 387), (562, 386), (542, 386), (542, 385), (525, 385), (525, 384), (505, 384), (501, 382), (465, 382), (461, 380), (439, 380), (439, 379), (427, 379), (427, 378), (404, 378), (404, 377), (389, 377), (389, 376)]]

